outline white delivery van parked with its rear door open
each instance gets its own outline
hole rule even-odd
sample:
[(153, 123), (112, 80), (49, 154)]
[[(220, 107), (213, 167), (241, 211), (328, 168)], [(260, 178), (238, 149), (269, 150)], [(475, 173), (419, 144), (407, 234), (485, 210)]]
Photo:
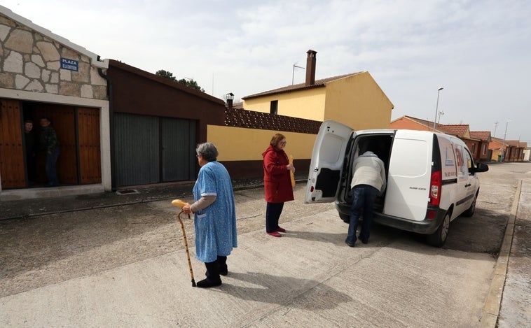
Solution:
[(471, 216), (479, 192), (477, 172), (467, 145), (459, 138), (431, 131), (376, 129), (354, 131), (324, 121), (315, 140), (305, 203), (336, 202), (349, 222), (352, 162), (366, 150), (385, 164), (387, 189), (375, 202), (374, 222), (427, 235), (441, 247), (450, 221)]

